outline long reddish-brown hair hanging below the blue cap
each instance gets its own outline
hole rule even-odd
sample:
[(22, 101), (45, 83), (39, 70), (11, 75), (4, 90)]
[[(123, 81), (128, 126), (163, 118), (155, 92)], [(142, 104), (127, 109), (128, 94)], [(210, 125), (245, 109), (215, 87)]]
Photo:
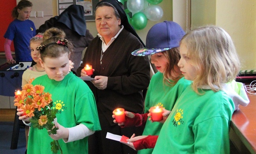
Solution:
[[(171, 48), (167, 51), (163, 51), (162, 53), (163, 56), (165, 56), (165, 58), (167, 59), (167, 67), (163, 72), (163, 83), (174, 86), (182, 77), (182, 74), (179, 74), (178, 77), (172, 75), (172, 73), (179, 73), (176, 72), (176, 68), (178, 68), (178, 62), (180, 60), (180, 47)], [(173, 82), (171, 82), (170, 80), (172, 80)]]

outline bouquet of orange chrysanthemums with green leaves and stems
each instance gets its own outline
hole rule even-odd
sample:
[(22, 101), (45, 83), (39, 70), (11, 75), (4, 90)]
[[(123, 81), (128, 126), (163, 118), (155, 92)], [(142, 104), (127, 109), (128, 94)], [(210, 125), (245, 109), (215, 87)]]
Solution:
[[(56, 118), (57, 110), (52, 109), (52, 94), (44, 92), (45, 87), (41, 85), (26, 84), (22, 88), (21, 94), (15, 96), (14, 105), (24, 111), (26, 117), (30, 117), (33, 127), (38, 129), (46, 128), (48, 134), (56, 134), (58, 128), (54, 127), (54, 118)], [(57, 153), (61, 151), (58, 141), (51, 143), (51, 150)]]

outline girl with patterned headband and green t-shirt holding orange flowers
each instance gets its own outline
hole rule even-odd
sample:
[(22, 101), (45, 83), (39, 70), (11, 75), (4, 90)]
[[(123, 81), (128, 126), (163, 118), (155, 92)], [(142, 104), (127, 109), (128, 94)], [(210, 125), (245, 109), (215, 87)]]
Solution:
[[(37, 77), (32, 84), (45, 86), (52, 94), (53, 108), (57, 109), (57, 134), (47, 133), (31, 126), (28, 154), (52, 153), (50, 142), (59, 140), (63, 153), (88, 153), (88, 136), (101, 130), (93, 93), (87, 84), (70, 71), (70, 46), (66, 39), (51, 37), (37, 48), (46, 75)], [(17, 112), (20, 116), (22, 111)], [(29, 122), (29, 118), (19, 119)]]

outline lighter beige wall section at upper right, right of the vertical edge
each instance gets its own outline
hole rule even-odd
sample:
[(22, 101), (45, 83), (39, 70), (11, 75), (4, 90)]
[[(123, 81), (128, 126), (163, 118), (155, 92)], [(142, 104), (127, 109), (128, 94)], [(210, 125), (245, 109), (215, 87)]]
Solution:
[(232, 37), (242, 69), (256, 69), (256, 0), (216, 0), (216, 26)]

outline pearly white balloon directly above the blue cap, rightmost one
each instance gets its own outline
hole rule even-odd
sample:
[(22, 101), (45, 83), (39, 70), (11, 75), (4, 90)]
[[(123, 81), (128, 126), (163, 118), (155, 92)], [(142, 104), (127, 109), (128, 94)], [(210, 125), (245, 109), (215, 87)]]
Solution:
[(160, 6), (150, 5), (145, 9), (148, 20), (158, 21), (163, 17), (163, 9)]

